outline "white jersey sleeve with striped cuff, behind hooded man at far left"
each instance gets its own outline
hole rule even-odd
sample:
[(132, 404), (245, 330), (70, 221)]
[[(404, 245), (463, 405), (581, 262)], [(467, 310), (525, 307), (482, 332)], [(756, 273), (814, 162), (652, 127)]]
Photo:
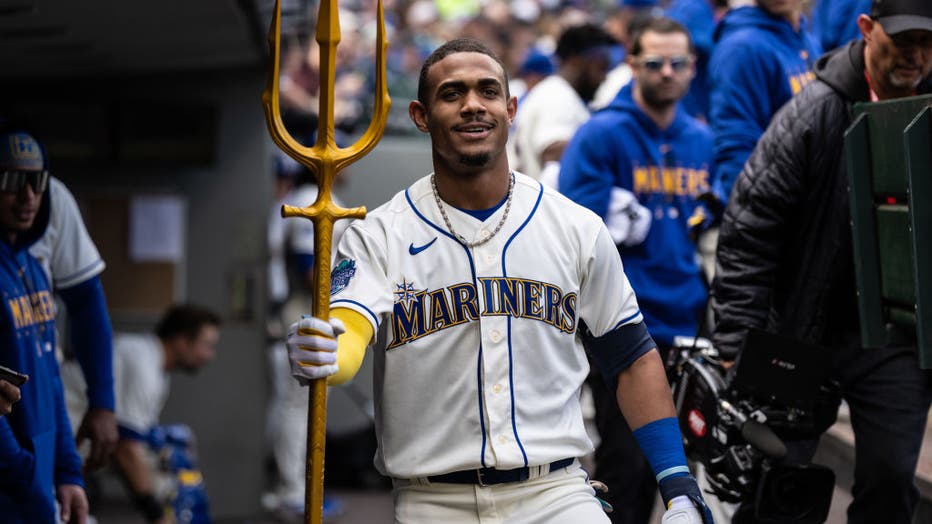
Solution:
[(67, 289), (100, 274), (104, 261), (84, 227), (78, 204), (68, 188), (49, 177), (49, 225), (29, 248), (55, 289)]

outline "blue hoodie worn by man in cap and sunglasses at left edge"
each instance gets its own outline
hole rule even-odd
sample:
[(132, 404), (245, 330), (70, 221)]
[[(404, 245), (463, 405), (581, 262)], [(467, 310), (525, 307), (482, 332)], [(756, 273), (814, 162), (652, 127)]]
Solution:
[(0, 522), (54, 524), (55, 486), (83, 486), (58, 362), (48, 280), (27, 248), (45, 229), (39, 217), (10, 245), (0, 240), (0, 364), (29, 375), (13, 413), (0, 417)]

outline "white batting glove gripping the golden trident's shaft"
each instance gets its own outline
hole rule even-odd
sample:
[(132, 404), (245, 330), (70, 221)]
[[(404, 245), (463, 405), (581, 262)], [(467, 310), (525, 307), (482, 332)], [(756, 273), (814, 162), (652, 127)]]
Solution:
[(306, 386), (311, 380), (337, 372), (337, 337), (346, 332), (338, 318), (330, 321), (304, 317), (288, 328), (288, 360), (291, 375)]

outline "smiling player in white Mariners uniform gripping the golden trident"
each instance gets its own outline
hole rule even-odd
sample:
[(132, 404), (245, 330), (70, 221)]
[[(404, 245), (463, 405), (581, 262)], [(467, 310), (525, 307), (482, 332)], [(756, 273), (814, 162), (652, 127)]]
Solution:
[(340, 383), (376, 348), (375, 463), (394, 481), (395, 522), (607, 523), (578, 461), (592, 451), (587, 339), (641, 436), (664, 522), (711, 522), (608, 231), (509, 169), (507, 86), (478, 41), (427, 58), (409, 114), (434, 173), (347, 229), (331, 319), (291, 327), (294, 375)]

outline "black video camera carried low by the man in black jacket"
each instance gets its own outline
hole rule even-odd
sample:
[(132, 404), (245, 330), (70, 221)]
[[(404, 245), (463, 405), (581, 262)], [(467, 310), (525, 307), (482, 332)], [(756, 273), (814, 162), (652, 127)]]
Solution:
[(753, 350), (726, 371), (709, 341), (678, 337), (667, 370), (687, 457), (704, 466), (719, 500), (752, 504), (756, 522), (821, 523), (835, 475), (785, 460), (785, 442), (815, 438), (834, 420), (819, 400), (826, 354), (786, 344), (752, 332)]

